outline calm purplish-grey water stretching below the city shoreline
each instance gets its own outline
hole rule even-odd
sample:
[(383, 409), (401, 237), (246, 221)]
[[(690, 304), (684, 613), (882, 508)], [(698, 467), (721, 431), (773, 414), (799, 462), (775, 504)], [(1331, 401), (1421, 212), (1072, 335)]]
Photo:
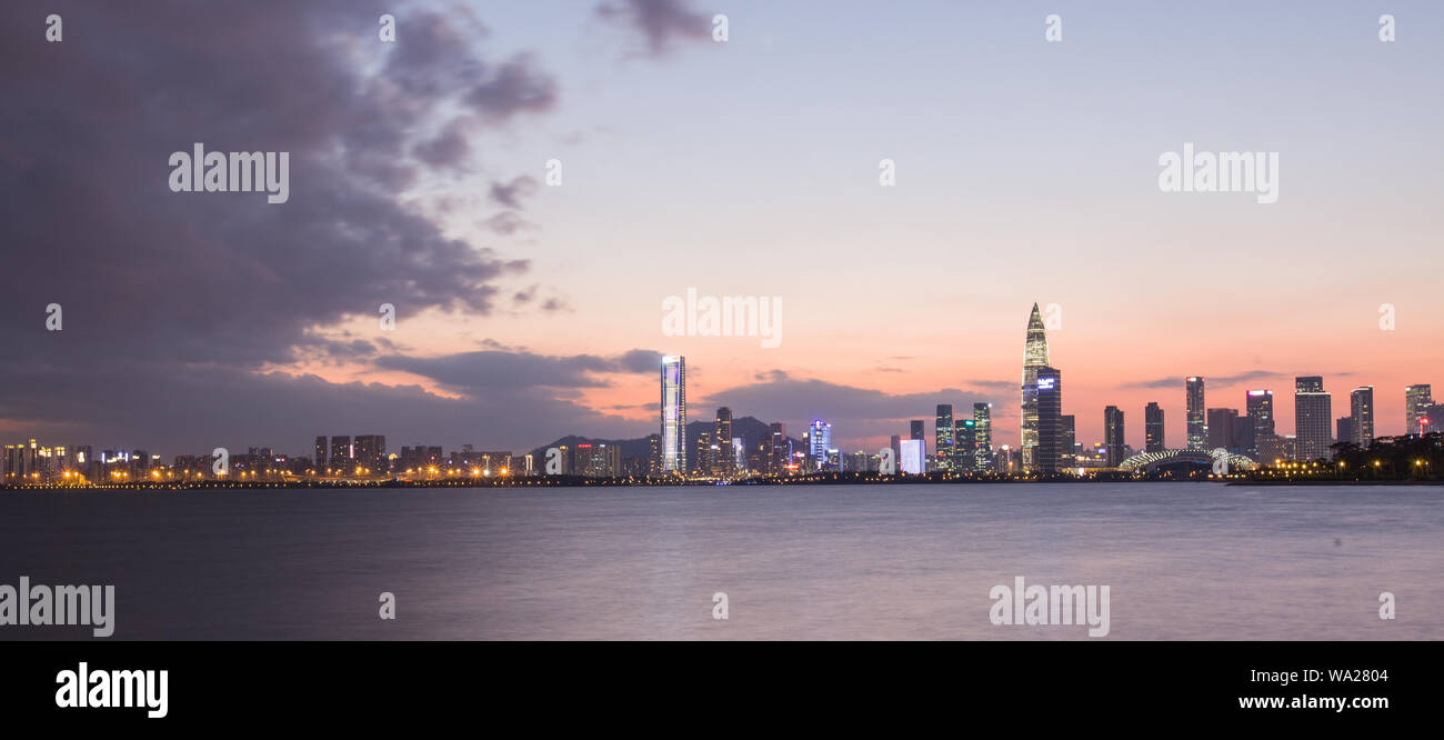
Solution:
[(113, 639), (1086, 639), (993, 626), (1015, 575), (1109, 585), (1108, 639), (1441, 639), (1444, 489), (3, 491), (20, 575), (116, 584)]

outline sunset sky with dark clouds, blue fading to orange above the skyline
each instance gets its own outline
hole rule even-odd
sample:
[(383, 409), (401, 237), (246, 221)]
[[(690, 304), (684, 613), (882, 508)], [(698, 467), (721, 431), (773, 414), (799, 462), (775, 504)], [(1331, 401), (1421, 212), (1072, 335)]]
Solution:
[[(1444, 383), (1437, 3), (22, 1), (0, 64), (4, 442), (640, 436), (682, 354), (690, 419), (1017, 444), (1034, 302), (1084, 444), (1157, 400), (1181, 445), (1186, 376), (1285, 434), (1297, 374), (1380, 435)], [(172, 192), (196, 142), (290, 152), (287, 202)], [(1278, 202), (1162, 192), (1184, 143), (1276, 152)], [(781, 341), (666, 334), (689, 289)]]

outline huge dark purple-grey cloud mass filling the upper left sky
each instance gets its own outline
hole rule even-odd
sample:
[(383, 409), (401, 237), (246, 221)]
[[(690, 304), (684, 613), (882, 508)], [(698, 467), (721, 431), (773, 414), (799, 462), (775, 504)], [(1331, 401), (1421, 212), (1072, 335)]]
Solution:
[[(465, 155), (469, 120), (556, 100), (534, 59), (488, 61), (465, 14), (403, 14), (388, 45), (374, 19), (394, 7), (370, 0), (56, 1), (53, 12), (66, 20), (62, 43), (0, 25), (4, 254), (35, 266), (0, 270), (0, 419), (153, 444), (172, 435), (168, 418), (193, 418), (166, 410), (186, 402), (179, 383), (209, 389), (218, 400), (204, 406), (228, 409), (231, 423), (293, 429), (284, 406), (230, 393), (316, 380), (237, 379), (394, 354), (380, 331), (316, 330), (375, 321), (381, 304), (488, 315), (507, 295), (498, 283), (529, 270), (445, 236), (403, 198)], [(196, 142), (289, 152), (289, 201), (170, 192), (170, 153)], [(49, 304), (62, 306), (62, 331), (46, 331)], [(367, 393), (396, 397), (345, 392), (352, 403)]]

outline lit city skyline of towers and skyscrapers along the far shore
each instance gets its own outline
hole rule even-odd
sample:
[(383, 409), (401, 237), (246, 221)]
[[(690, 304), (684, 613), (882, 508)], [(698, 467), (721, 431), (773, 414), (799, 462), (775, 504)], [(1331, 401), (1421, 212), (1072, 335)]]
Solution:
[[(729, 406), (716, 408), (716, 419), (713, 423), (718, 429), (716, 434), (719, 434), (721, 438), (710, 439), (710, 432), (702, 432), (699, 438), (689, 439), (686, 431), (689, 423), (686, 410), (686, 357), (661, 356), (658, 360), (661, 370), (660, 403), (657, 406), (660, 428), (654, 435), (657, 439), (657, 448), (653, 452), (657, 458), (653, 462), (656, 471), (726, 471), (729, 467), (723, 465), (719, 457), (723, 454), (728, 455), (728, 460), (735, 458), (738, 460), (738, 464), (741, 464), (747, 452), (751, 451), (741, 447), (741, 439), (732, 438), (732, 409)], [(1082, 451), (1087, 451), (1087, 436), (1077, 436), (1076, 413), (1063, 413), (1063, 410), (1071, 409), (1063, 403), (1061, 371), (1050, 367), (1048, 363), (1050, 354), (1047, 330), (1043, 324), (1040, 308), (1034, 304), (1024, 331), (1022, 395), (1018, 403), (1019, 418), (1031, 418), (1032, 423), (1031, 428), (1028, 425), (1019, 426), (1018, 438), (1015, 439), (1017, 445), (999, 442), (993, 447), (991, 444), (995, 406), (988, 402), (973, 403), (975, 412), (972, 423), (969, 425), (954, 423), (954, 406), (952, 403), (937, 403), (934, 406), (936, 413), (933, 416), (934, 422), (931, 435), (928, 435), (926, 419), (908, 419), (907, 439), (915, 447), (900, 447), (900, 435), (891, 435), (888, 445), (894, 448), (894, 455), (900, 462), (902, 461), (901, 455), (907, 455), (907, 470), (910, 473), (915, 473), (918, 470), (934, 470), (934, 465), (936, 470), (941, 471), (980, 470), (980, 461), (975, 462), (972, 468), (966, 465), (960, 467), (959, 464), (959, 455), (962, 455), (962, 452), (957, 449), (957, 444), (959, 439), (963, 438), (963, 434), (973, 439), (972, 457), (979, 460), (983, 455), (998, 452), (998, 448), (1006, 445), (1008, 449), (1017, 451), (1019, 465), (1018, 470), (1021, 473), (1054, 473), (1067, 468), (1069, 465), (1063, 458), (1071, 455), (1074, 447)], [(1227, 448), (1239, 454), (1246, 454), (1256, 461), (1268, 462), (1279, 455), (1285, 460), (1314, 460), (1328, 457), (1334, 442), (1353, 442), (1359, 447), (1367, 447), (1376, 436), (1385, 436), (1375, 434), (1376, 419), (1373, 386), (1359, 386), (1349, 392), (1349, 416), (1337, 419), (1337, 434), (1334, 434), (1336, 421), (1331, 415), (1331, 392), (1326, 389), (1323, 376), (1295, 376), (1294, 384), (1295, 434), (1292, 435), (1276, 434), (1276, 413), (1274, 408), (1272, 389), (1249, 389), (1245, 393), (1245, 403), (1242, 408), (1216, 406), (1209, 403), (1209, 396), (1206, 395), (1207, 377), (1187, 376), (1183, 379), (1183, 405), (1187, 410), (1184, 445), (1173, 448), (1167, 445), (1168, 436), (1167, 425), (1164, 423), (1164, 408), (1155, 400), (1148, 402), (1144, 409), (1145, 423), (1142, 425), (1142, 445), (1134, 445), (1128, 441), (1128, 425), (1125, 423), (1126, 413), (1116, 405), (1108, 405), (1103, 409), (1103, 429), (1099, 435), (1100, 441), (1096, 441), (1095, 445), (1102, 445), (1106, 455), (1105, 460), (1109, 467), (1118, 465), (1125, 457), (1134, 452), (1157, 452), (1162, 449)], [(1425, 383), (1415, 383), (1405, 389), (1405, 426), (1409, 423), (1419, 426), (1415, 416), (1418, 413), (1427, 413), (1431, 409), (1432, 397), (1430, 389), (1431, 386)], [(983, 425), (985, 429), (988, 429), (983, 432), (986, 436), (979, 436), (978, 432), (979, 422), (982, 422), (982, 416), (979, 416), (979, 406), (986, 409), (988, 423)], [(768, 418), (765, 412), (752, 416), (758, 421)], [(807, 432), (803, 436), (806, 458), (816, 467), (816, 470), (825, 468), (829, 461), (832, 464), (840, 462), (839, 460), (832, 460), (830, 454), (849, 454), (845, 447), (833, 447), (832, 423), (825, 421), (826, 418), (814, 416), (812, 423), (807, 425)], [(774, 435), (778, 429), (786, 429), (787, 425), (787, 422), (771, 423)], [(595, 435), (585, 434), (585, 431), (579, 434), (576, 429), (569, 431), (565, 435), (559, 435), (559, 438), (562, 436), (599, 439)], [(931, 449), (927, 447), (927, 439), (930, 438), (933, 439)], [(1070, 444), (1064, 448), (1064, 438), (1077, 444)], [(692, 454), (693, 462), (689, 464), (687, 448), (693, 444), (696, 449)], [(6, 447), (12, 449), (16, 447), (23, 448), (25, 444), (12, 444)], [(36, 448), (35, 438), (29, 439), (29, 447), (32, 449)], [(64, 449), (66, 448), (84, 448), (87, 452), (91, 452), (95, 445), (66, 444), (55, 447), (61, 448), (64, 454)], [(465, 442), (462, 447), (466, 451), (465, 454), (469, 455), (475, 445)], [(530, 445), (521, 447), (520, 449), (534, 449), (537, 447), (539, 445)], [(49, 447), (45, 449), (48, 448)], [(130, 454), (130, 449), (140, 448), (120, 448), (120, 454)], [(271, 448), (257, 447), (247, 447), (247, 449), (250, 449), (251, 455), (256, 455), (257, 449), (266, 449), (266, 455), (261, 457), (269, 457), (271, 451)], [(407, 448), (403, 448), (401, 455), (393, 457), (404, 460), (404, 449)], [(433, 454), (433, 457), (438, 457), (439, 451), (445, 449), (445, 445), (430, 447), (427, 449), (436, 449), (438, 452)], [(881, 448), (859, 448), (858, 451), (872, 452), (874, 449)], [(352, 438), (349, 435), (332, 435), (329, 436), (329, 445), (326, 436), (316, 436), (313, 451), (315, 454), (310, 460), (316, 468), (325, 468), (325, 460), (328, 457), (332, 460), (348, 458), (352, 461), (351, 464), (358, 465), (358, 470), (362, 464), (378, 467), (386, 457), (386, 435), (357, 435), (355, 444), (352, 444)], [(114, 449), (107, 451), (107, 454), (111, 455), (114, 455)], [(157, 457), (165, 460), (166, 455)], [(176, 457), (195, 455), (186, 455), (182, 452), (176, 454)], [(290, 457), (302, 458), (303, 455)], [(488, 470), (490, 467), (491, 465), (487, 465)]]

